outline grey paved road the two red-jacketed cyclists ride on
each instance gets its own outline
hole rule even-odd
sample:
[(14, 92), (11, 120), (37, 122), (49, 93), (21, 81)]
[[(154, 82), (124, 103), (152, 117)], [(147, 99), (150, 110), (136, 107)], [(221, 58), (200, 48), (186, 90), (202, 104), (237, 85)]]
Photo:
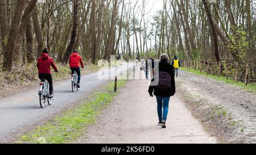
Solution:
[[(114, 74), (114, 69), (112, 68), (110, 73)], [(126, 65), (119, 66), (118, 70), (126, 70)], [(103, 72), (106, 72), (106, 69), (100, 71)], [(0, 143), (10, 139), (10, 136), (19, 129), (42, 122), (77, 101), (85, 99), (88, 93), (106, 82), (108, 80), (98, 78), (97, 72), (82, 76), (82, 89), (75, 93), (71, 93), (70, 80), (54, 83), (55, 100), (52, 106), (43, 109), (39, 105), (38, 88), (0, 99)]]

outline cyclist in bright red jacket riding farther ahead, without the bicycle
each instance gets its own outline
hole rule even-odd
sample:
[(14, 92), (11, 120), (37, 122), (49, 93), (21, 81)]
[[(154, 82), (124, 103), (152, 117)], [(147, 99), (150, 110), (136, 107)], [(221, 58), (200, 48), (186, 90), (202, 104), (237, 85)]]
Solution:
[(82, 57), (79, 55), (77, 49), (73, 50), (73, 54), (69, 57), (69, 66), (72, 70), (71, 74), (73, 75), (76, 71), (77, 73), (77, 87), (80, 88), (80, 79), (81, 79), (81, 73), (80, 73), (80, 64), (82, 68), (84, 68), (84, 62), (82, 62)]

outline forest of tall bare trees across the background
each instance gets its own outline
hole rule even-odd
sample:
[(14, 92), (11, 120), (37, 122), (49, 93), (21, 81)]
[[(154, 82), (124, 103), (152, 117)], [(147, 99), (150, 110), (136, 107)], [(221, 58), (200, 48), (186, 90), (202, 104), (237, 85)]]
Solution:
[[(67, 64), (72, 49), (97, 64), (110, 55), (123, 60), (159, 58), (220, 64), (221, 73), (256, 76), (256, 1), (0, 0), (1, 72), (35, 65), (42, 49)], [(212, 3), (213, 2), (213, 3)], [(229, 70), (225, 70), (229, 65)]]

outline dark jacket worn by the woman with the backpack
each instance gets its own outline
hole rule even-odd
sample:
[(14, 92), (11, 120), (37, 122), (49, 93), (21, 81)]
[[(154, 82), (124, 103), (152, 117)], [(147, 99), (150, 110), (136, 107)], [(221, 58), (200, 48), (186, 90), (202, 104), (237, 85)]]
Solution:
[[(175, 93), (175, 78), (174, 78), (174, 66), (172, 66), (169, 62), (163, 62), (160, 61), (158, 66), (159, 67), (159, 72), (167, 72), (171, 76), (171, 88), (170, 89), (159, 89), (156, 86), (150, 86), (148, 88), (148, 93), (153, 93), (155, 96), (159, 97), (172, 97)], [(151, 82), (154, 82), (154, 79), (152, 79)]]

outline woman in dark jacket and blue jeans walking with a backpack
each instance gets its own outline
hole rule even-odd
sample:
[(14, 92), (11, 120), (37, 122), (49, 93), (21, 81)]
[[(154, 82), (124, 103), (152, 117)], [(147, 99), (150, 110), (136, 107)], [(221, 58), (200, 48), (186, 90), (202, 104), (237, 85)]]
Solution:
[[(155, 69), (154, 79), (152, 79), (151, 85), (148, 89), (150, 97), (154, 97), (153, 92), (156, 96), (156, 101), (158, 103), (158, 124), (162, 125), (162, 128), (166, 128), (169, 101), (175, 94), (174, 66), (172, 66), (168, 61), (168, 55), (161, 55), (160, 62)], [(153, 84), (155, 83), (155, 79), (158, 79), (158, 82), (156, 82), (158, 83), (157, 85)]]

